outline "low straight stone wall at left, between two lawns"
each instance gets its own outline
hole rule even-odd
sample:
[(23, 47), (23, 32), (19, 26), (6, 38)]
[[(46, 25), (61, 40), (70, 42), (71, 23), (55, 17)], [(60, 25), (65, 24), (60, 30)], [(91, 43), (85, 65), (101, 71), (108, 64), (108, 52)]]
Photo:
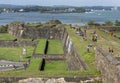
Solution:
[(36, 46), (37, 41), (13, 41), (13, 40), (0, 40), (0, 47), (21, 47), (21, 46)]

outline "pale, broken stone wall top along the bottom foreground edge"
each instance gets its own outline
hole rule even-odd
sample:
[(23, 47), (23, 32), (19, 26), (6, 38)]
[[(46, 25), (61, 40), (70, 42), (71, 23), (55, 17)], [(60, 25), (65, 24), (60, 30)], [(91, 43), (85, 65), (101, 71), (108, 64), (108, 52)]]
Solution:
[(0, 77), (0, 83), (101, 83), (99, 77)]

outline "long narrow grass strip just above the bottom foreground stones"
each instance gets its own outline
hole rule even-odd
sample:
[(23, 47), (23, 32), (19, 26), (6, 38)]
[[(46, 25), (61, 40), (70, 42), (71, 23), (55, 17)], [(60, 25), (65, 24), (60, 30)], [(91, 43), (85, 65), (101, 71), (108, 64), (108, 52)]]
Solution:
[(99, 75), (96, 71), (39, 71), (29, 69), (18, 69), (0, 71), (0, 77), (71, 77), (71, 76), (93, 76)]

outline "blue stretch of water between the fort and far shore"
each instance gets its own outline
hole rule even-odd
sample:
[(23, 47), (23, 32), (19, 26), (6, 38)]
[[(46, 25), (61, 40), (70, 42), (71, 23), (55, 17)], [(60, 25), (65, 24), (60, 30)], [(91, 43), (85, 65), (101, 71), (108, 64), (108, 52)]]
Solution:
[(46, 22), (58, 19), (63, 23), (84, 24), (90, 20), (103, 23), (105, 21), (120, 20), (120, 11), (96, 11), (91, 13), (40, 13), (40, 12), (17, 12), (1, 13), (0, 25), (8, 24), (13, 21), (22, 22)]

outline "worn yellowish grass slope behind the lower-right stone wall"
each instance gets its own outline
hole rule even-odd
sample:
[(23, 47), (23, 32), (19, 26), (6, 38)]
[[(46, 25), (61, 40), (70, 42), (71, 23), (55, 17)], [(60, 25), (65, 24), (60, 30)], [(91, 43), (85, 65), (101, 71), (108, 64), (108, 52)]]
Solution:
[(102, 46), (102, 48), (106, 52), (108, 52), (109, 47), (113, 48), (113, 50), (114, 50), (113, 55), (115, 57), (119, 57), (120, 56), (120, 39), (115, 38), (115, 37), (111, 36), (110, 34), (105, 33), (101, 30), (98, 30), (97, 32), (100, 35), (97, 45)]

